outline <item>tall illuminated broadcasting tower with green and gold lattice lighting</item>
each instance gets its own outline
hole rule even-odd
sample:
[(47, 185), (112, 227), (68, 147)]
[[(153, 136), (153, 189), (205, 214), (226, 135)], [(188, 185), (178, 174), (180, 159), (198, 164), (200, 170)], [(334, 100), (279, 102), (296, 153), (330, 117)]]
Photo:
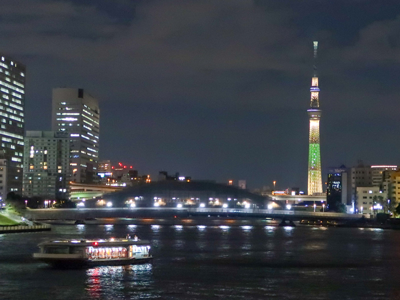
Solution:
[(316, 72), (316, 52), (318, 42), (314, 41), (314, 75), (310, 87), (311, 103), (307, 110), (309, 118), (309, 146), (308, 146), (308, 194), (322, 192), (321, 178), (321, 157), (319, 150), (319, 119), (321, 110), (319, 109), (319, 87), (318, 75)]

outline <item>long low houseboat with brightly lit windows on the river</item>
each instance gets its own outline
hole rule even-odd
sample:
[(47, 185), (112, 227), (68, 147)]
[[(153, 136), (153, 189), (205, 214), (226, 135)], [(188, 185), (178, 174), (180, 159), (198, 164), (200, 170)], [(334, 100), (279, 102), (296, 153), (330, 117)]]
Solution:
[(33, 258), (58, 267), (125, 265), (152, 258), (150, 244), (140, 239), (53, 240), (38, 246)]

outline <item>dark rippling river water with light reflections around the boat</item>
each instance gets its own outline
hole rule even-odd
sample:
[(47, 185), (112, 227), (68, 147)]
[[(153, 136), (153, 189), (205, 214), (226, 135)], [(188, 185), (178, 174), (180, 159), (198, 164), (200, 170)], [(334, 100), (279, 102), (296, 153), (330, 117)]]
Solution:
[[(56, 238), (152, 243), (152, 263), (57, 270)], [(400, 231), (334, 227), (58, 225), (0, 235), (0, 299), (400, 299)]]

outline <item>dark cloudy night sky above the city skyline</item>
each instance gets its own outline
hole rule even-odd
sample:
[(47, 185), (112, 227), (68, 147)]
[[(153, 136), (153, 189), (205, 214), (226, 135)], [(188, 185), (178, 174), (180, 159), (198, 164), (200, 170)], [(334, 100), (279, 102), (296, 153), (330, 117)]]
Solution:
[(305, 190), (313, 40), (322, 167), (400, 163), (398, 0), (0, 1), (25, 129), (50, 130), (53, 87), (84, 88), (100, 159), (153, 177)]

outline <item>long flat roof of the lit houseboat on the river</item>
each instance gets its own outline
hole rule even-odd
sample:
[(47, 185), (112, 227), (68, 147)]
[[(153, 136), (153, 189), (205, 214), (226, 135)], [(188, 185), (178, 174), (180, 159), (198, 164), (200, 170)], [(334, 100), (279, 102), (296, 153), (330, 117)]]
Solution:
[(39, 243), (39, 246), (128, 246), (128, 245), (148, 245), (148, 240), (133, 238), (109, 238), (109, 239), (64, 239), (49, 240)]

